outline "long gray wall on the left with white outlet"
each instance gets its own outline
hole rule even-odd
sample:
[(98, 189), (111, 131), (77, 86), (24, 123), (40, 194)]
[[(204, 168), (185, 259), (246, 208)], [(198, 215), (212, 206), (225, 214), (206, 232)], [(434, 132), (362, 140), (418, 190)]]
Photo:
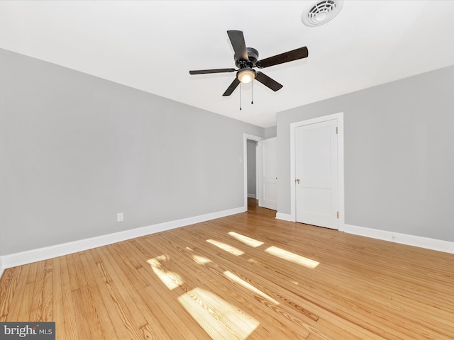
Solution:
[(0, 50), (0, 255), (242, 207), (243, 133), (264, 129)]

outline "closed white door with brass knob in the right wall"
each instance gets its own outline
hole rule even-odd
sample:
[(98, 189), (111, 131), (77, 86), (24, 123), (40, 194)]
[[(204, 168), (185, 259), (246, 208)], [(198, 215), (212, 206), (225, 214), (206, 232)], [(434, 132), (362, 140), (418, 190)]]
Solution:
[(295, 128), (296, 220), (338, 229), (337, 120)]

